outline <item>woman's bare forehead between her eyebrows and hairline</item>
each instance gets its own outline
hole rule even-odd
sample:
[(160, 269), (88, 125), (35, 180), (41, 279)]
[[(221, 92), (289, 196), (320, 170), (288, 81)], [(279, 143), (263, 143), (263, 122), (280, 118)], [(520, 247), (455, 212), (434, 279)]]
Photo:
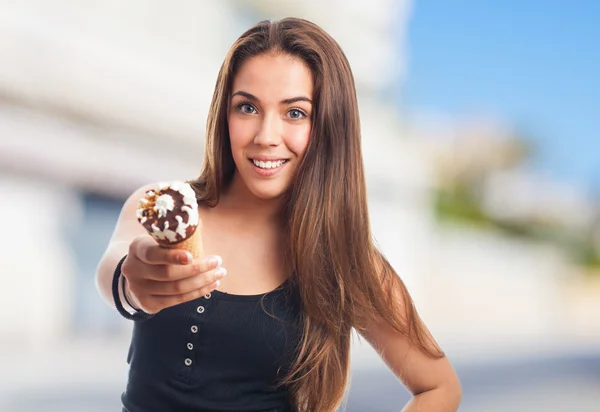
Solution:
[(312, 73), (306, 63), (287, 54), (247, 59), (233, 79), (232, 93), (243, 90), (259, 100), (306, 96), (312, 99)]

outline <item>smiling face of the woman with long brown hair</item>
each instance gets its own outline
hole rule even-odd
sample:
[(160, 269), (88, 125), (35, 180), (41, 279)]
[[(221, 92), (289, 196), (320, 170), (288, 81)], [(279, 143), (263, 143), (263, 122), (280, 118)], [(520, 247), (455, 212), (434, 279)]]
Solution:
[(308, 146), (312, 99), (312, 74), (298, 58), (265, 54), (240, 67), (229, 102), (231, 152), (258, 198), (276, 198), (290, 185)]

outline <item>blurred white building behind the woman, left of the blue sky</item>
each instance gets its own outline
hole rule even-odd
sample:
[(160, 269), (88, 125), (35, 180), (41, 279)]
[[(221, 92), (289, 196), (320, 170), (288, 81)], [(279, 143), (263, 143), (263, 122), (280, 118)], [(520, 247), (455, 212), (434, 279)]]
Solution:
[[(401, 79), (407, 6), (38, 0), (0, 8), (1, 207), (18, 239), (0, 252), (10, 285), (0, 292), (2, 338), (36, 346), (42, 336), (121, 330), (93, 278), (122, 202), (142, 184), (199, 173), (219, 66), (264, 18), (305, 17), (341, 44), (360, 96), (375, 232), (384, 248), (406, 237), (407, 225), (422, 233), (427, 165), (398, 138), (401, 124), (384, 102)], [(418, 242), (406, 240), (390, 258), (408, 274)]]

